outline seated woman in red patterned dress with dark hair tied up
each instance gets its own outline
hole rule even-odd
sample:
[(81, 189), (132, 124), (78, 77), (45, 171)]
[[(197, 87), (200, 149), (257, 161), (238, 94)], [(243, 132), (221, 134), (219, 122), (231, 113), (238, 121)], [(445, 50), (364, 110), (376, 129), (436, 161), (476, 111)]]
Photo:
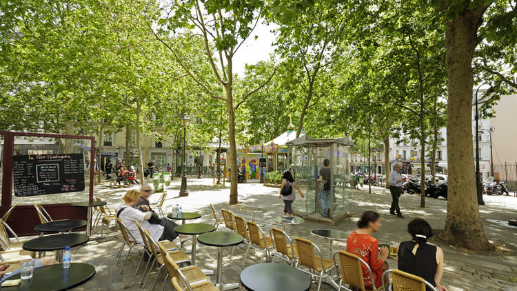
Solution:
[[(375, 287), (378, 288), (383, 283), (381, 276), (385, 270), (388, 270), (386, 262), (389, 254), (389, 249), (381, 248), (381, 256), (378, 253), (378, 241), (372, 237), (372, 232), (378, 232), (382, 223), (379, 215), (373, 211), (366, 211), (361, 215), (361, 219), (357, 221), (358, 230), (354, 230), (347, 238), (347, 252), (355, 254), (368, 263), (369, 268), (374, 274)], [(365, 265), (363, 267), (363, 280), (365, 281), (365, 288), (373, 289), (372, 278)]]

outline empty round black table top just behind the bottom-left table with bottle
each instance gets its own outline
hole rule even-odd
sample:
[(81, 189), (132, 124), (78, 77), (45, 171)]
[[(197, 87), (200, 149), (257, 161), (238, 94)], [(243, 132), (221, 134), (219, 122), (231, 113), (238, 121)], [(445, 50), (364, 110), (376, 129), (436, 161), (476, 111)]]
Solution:
[(33, 252), (63, 250), (66, 247), (72, 248), (82, 245), (88, 239), (88, 235), (81, 233), (52, 234), (26, 241), (23, 243), (22, 248), (23, 250), (32, 250)]

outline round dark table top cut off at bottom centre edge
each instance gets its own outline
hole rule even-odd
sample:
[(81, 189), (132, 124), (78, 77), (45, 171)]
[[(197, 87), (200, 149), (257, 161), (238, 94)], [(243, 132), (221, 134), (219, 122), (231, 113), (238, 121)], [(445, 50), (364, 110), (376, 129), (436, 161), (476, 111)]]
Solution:
[(241, 272), (241, 283), (251, 291), (308, 291), (309, 274), (285, 263), (259, 263)]

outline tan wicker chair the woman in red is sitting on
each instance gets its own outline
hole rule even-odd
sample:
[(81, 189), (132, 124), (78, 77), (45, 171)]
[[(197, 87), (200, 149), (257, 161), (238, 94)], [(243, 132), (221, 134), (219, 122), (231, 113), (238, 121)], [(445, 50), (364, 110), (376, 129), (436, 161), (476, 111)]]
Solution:
[[(339, 258), (339, 260), (336, 260), (336, 256)], [(341, 288), (345, 288), (345, 290), (355, 289), (358, 291), (370, 291), (369, 289), (365, 288), (363, 268), (361, 267), (361, 263), (366, 266), (369, 272), (369, 276), (372, 278), (372, 290), (377, 290), (375, 288), (376, 283), (374, 281), (374, 274), (372, 269), (369, 268), (368, 263), (366, 263), (363, 259), (356, 256), (355, 254), (350, 254), (349, 252), (345, 252), (343, 250), (334, 252), (332, 259), (334, 260), (334, 266), (336, 266), (336, 270), (338, 271), (338, 279), (340, 279), (338, 282), (338, 291), (340, 291)], [(349, 288), (346, 288), (343, 284), (348, 284)]]

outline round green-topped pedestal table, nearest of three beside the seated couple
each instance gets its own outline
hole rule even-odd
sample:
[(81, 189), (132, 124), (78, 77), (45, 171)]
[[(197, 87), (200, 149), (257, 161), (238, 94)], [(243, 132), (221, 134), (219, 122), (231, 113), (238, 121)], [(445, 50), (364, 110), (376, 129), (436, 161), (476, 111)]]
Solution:
[(239, 283), (221, 283), (221, 271), (223, 269), (223, 248), (242, 243), (243, 236), (235, 232), (206, 232), (197, 237), (197, 240), (203, 245), (217, 247), (216, 287), (221, 291), (239, 288)]

